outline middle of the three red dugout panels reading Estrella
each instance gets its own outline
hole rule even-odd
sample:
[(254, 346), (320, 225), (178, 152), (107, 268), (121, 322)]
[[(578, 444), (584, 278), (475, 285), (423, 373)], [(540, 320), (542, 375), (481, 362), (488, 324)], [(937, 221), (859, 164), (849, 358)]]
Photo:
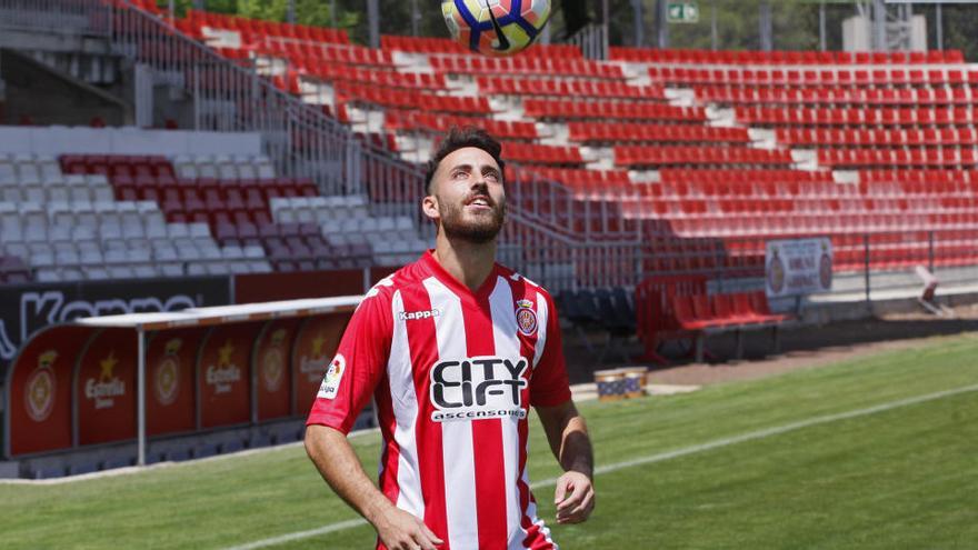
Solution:
[(251, 421), (251, 350), (262, 324), (217, 326), (204, 337), (197, 359), (200, 428)]

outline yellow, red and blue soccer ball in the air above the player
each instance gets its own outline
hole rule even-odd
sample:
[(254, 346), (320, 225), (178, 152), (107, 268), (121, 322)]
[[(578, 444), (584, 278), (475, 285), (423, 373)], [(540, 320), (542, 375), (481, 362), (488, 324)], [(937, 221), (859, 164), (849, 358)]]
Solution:
[(442, 0), (451, 38), (487, 56), (512, 56), (537, 40), (550, 19), (550, 0)]

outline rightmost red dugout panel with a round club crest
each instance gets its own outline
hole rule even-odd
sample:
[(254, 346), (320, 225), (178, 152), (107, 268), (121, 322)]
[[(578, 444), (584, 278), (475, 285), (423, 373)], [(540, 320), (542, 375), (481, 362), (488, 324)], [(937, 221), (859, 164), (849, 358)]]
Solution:
[(251, 356), (256, 419), (268, 420), (291, 413), (292, 371), (289, 359), (299, 319), (268, 321)]

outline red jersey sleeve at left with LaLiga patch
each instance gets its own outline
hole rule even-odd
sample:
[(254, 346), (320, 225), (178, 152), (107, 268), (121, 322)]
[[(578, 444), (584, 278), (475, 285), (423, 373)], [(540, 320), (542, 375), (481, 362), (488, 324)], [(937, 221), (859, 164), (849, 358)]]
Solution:
[(306, 426), (349, 433), (386, 370), (392, 326), (389, 294), (369, 292), (347, 324)]

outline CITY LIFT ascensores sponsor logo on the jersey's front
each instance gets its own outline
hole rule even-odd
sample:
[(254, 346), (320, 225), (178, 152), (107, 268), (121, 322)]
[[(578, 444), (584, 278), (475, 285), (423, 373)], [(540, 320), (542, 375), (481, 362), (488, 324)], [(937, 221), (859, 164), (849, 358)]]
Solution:
[(435, 422), (526, 418), (520, 391), (526, 358), (472, 357), (439, 361), (430, 370)]

